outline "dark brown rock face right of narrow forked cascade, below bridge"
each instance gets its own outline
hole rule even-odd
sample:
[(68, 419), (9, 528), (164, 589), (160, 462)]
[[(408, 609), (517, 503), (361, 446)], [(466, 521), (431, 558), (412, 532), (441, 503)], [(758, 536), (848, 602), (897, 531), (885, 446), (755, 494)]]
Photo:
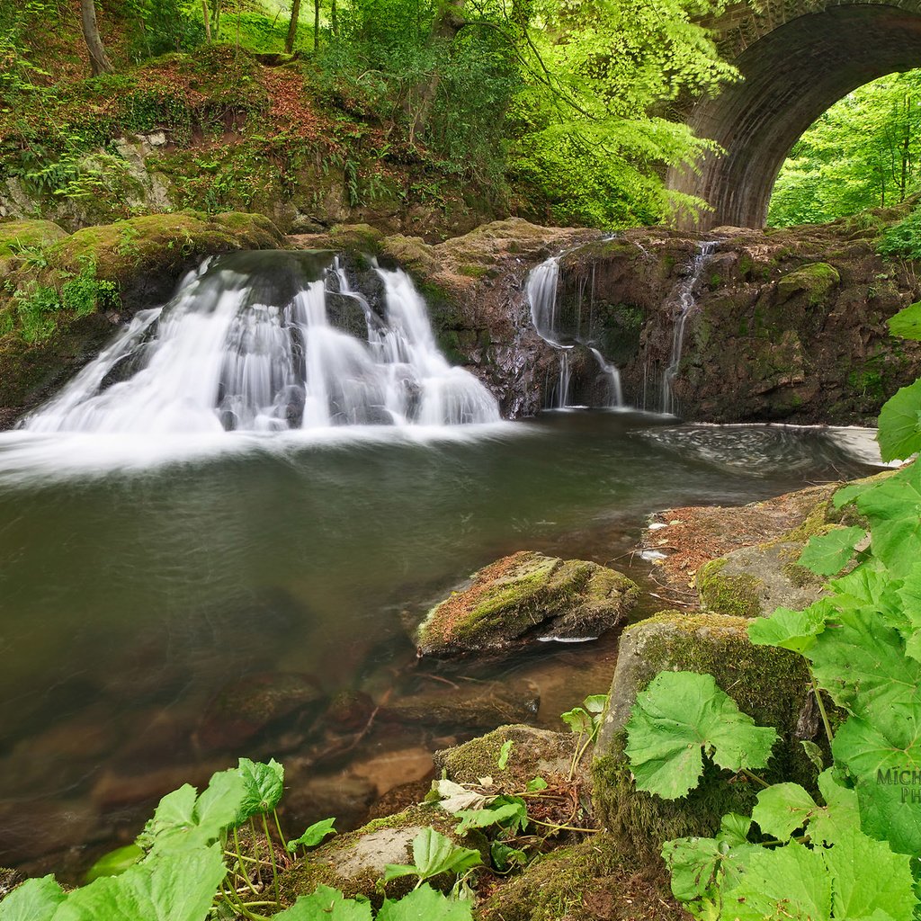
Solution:
[[(670, 405), (688, 420), (867, 423), (921, 373), (886, 319), (919, 294), (876, 252), (885, 220), (708, 237), (637, 228), (568, 252), (557, 310), (621, 369), (626, 402), (659, 410), (682, 293), (690, 311)], [(705, 240), (712, 251), (695, 262)]]

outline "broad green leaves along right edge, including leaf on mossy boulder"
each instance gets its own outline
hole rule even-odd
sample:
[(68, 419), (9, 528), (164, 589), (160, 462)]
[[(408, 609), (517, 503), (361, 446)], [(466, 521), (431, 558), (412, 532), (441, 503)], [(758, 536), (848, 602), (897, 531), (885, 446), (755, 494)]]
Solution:
[[(914, 335), (915, 312), (896, 328)], [(890, 452), (910, 447), (903, 427), (899, 414), (881, 415), (880, 444)], [(834, 504), (854, 504), (869, 520), (869, 550), (856, 550), (862, 528), (813, 538), (801, 565), (825, 576), (846, 565), (851, 571), (805, 611), (781, 608), (749, 627), (752, 643), (791, 649), (809, 662), (834, 767), (817, 777), (820, 799), (799, 784), (765, 785), (752, 820), (726, 816), (715, 838), (664, 845), (672, 892), (702, 919), (898, 921), (921, 909), (921, 465), (845, 487)], [(679, 786), (687, 756), (677, 740), (696, 747), (706, 735), (687, 733), (682, 716), (698, 711), (697, 688), (672, 672), (653, 684), (663, 679), (670, 680), (664, 693), (650, 685), (651, 706), (637, 698), (627, 752), (633, 746), (642, 757), (659, 756)], [(845, 716), (834, 731), (823, 694)], [(743, 743), (744, 727), (722, 728)], [(809, 753), (821, 767), (818, 746)], [(658, 791), (659, 772), (635, 765), (634, 773), (638, 787)]]

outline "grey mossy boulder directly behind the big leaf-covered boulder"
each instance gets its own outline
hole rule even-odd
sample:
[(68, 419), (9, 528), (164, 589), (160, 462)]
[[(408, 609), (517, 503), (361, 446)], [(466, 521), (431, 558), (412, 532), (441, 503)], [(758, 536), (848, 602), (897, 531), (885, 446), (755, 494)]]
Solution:
[(809, 607), (822, 595), (823, 583), (799, 565), (802, 549), (801, 543), (775, 541), (712, 560), (697, 574), (701, 607), (732, 617)]

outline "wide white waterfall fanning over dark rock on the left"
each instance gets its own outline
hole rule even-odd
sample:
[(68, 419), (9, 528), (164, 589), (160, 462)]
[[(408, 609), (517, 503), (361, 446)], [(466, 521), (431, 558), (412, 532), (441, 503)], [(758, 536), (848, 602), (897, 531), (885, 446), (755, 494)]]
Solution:
[(492, 394), (438, 351), (407, 274), (375, 265), (379, 316), (338, 262), (318, 258), (257, 252), (205, 262), (23, 427), (171, 434), (499, 420)]

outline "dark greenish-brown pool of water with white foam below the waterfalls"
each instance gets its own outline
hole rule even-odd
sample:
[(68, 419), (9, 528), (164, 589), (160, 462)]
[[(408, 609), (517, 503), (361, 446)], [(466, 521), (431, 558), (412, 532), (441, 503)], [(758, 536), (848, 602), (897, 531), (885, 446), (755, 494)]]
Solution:
[[(0, 864), (73, 876), (131, 840), (159, 795), (239, 755), (286, 761), (292, 786), (325, 777), (335, 803), (369, 801), (472, 730), (375, 718), (398, 701), (525, 682), (533, 721), (557, 726), (606, 690), (614, 637), (417, 662), (407, 625), (502, 554), (612, 563), (643, 584), (630, 551), (650, 512), (867, 471), (821, 429), (624, 412), (411, 432), (0, 435)], [(338, 723), (300, 708), (215, 743), (227, 689), (274, 694), (292, 675), (297, 694), (355, 705)]]

